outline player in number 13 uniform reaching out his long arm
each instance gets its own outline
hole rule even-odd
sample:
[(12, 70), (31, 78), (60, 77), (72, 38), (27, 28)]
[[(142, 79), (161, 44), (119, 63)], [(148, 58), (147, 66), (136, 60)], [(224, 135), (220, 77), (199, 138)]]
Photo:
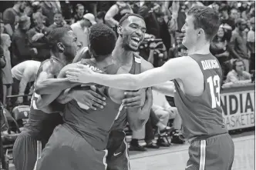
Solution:
[(197, 6), (187, 12), (183, 44), (188, 55), (173, 58), (160, 68), (139, 75), (100, 75), (87, 68), (70, 68), (72, 82), (95, 82), (113, 88), (136, 90), (173, 80), (174, 100), (189, 139), (186, 169), (231, 170), (234, 142), (227, 133), (221, 109), (221, 66), (211, 55), (210, 43), (220, 18), (214, 9)]

